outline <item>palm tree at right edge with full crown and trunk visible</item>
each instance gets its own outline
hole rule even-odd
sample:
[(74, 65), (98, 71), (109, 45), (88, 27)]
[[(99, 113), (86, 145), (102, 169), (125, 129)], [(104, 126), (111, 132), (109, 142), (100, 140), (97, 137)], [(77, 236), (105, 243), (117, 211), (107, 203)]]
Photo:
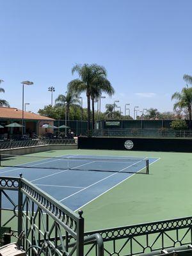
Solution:
[(184, 87), (182, 88), (181, 93), (175, 92), (172, 95), (172, 100), (177, 100), (173, 105), (173, 109), (182, 109), (187, 110), (189, 115), (189, 120), (191, 120), (191, 111), (192, 111), (192, 87)]

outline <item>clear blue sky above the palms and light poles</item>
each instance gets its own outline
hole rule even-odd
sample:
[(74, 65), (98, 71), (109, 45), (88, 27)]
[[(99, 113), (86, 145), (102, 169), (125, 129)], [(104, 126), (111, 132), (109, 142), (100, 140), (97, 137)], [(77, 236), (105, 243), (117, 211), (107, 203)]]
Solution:
[[(6, 0), (0, 3), (0, 97), (38, 111), (65, 93), (75, 63), (108, 70), (112, 99), (172, 111), (171, 95), (192, 75), (191, 0)], [(84, 106), (86, 99), (84, 98)]]

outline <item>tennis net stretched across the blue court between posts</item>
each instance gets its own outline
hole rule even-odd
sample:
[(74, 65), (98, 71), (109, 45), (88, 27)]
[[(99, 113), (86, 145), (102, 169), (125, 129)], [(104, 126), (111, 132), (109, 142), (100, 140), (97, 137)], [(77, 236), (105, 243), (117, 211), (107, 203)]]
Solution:
[(79, 170), (114, 173), (149, 173), (148, 159), (145, 157), (44, 157), (30, 155), (1, 154), (0, 166), (15, 168), (41, 168), (55, 170)]

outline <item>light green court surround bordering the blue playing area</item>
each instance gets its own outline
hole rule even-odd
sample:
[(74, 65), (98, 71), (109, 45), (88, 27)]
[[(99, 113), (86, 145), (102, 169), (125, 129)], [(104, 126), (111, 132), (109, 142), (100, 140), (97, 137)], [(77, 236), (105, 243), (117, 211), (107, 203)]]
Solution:
[(86, 231), (191, 216), (190, 153), (52, 150), (33, 156), (66, 154), (160, 157), (159, 161), (150, 165), (149, 175), (134, 174), (85, 205), (83, 216)]

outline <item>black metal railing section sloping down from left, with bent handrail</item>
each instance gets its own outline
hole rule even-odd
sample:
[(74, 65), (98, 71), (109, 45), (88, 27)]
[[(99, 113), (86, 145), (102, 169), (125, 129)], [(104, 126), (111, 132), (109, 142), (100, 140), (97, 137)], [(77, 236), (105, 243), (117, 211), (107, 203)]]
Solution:
[(92, 241), (99, 246), (98, 256), (102, 256), (99, 234), (84, 240), (82, 214), (71, 211), (22, 177), (0, 177), (1, 227), (12, 227), (18, 236), (24, 232), (19, 245), (29, 255), (83, 256), (84, 244)]

